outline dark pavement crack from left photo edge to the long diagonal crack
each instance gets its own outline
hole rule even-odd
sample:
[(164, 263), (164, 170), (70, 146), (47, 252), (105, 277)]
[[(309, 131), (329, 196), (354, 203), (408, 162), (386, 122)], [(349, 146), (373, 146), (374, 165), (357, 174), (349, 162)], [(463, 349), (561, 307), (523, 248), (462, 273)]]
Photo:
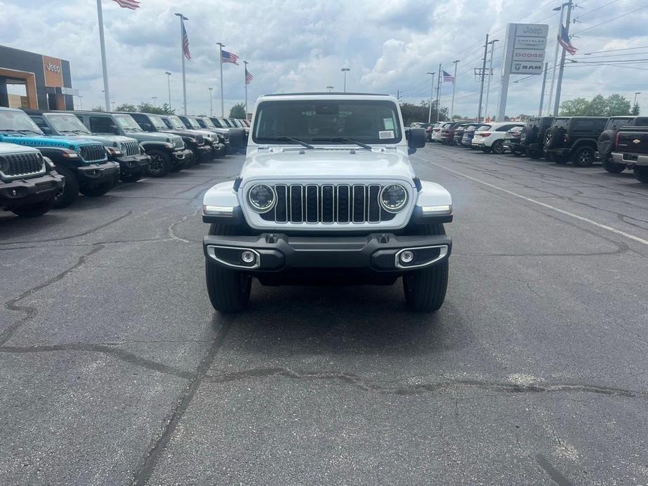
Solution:
[(118, 347), (111, 347), (107, 345), (71, 343), (67, 345), (50, 346), (0, 346), (0, 353), (6, 354), (29, 354), (59, 351), (81, 351), (109, 354), (110, 356), (114, 356), (121, 361), (125, 361), (126, 363), (157, 371), (158, 373), (164, 373), (165, 375), (173, 375), (184, 378), (185, 380), (191, 380), (191, 377), (193, 377), (193, 373), (190, 373), (188, 371), (183, 371), (179, 368), (175, 368), (174, 366), (167, 366), (163, 363), (158, 363), (157, 361), (145, 359), (141, 356), (137, 356), (137, 354), (127, 352), (124, 349), (119, 349)]

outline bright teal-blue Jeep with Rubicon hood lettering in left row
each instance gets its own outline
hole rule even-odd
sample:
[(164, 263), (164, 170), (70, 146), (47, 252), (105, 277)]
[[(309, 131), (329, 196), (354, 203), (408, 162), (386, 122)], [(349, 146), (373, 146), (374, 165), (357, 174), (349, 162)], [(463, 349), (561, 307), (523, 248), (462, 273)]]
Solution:
[(119, 181), (119, 164), (108, 160), (106, 148), (96, 141), (77, 137), (48, 137), (22, 110), (0, 108), (0, 141), (38, 148), (65, 177), (54, 207), (72, 204), (79, 193), (96, 197)]

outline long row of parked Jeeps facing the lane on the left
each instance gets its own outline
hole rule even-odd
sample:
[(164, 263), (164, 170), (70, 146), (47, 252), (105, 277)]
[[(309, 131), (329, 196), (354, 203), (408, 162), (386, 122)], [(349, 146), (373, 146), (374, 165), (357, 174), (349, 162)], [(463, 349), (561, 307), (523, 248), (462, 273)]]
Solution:
[(241, 120), (0, 108), (0, 209), (40, 216), (79, 194), (221, 158), (244, 139)]

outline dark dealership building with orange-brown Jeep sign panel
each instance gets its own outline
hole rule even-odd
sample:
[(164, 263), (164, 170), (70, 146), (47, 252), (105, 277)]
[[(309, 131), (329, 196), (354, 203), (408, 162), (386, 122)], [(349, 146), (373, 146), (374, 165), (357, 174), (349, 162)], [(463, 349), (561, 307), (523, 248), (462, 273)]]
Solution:
[(0, 46), (0, 106), (72, 110), (76, 95), (68, 61)]

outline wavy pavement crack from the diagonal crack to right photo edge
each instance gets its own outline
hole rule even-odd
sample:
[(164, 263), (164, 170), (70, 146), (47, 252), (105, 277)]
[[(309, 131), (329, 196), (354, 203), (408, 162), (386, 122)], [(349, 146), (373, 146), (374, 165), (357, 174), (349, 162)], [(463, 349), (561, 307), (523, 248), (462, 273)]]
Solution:
[(436, 391), (452, 391), (456, 389), (483, 389), (513, 394), (521, 393), (591, 393), (605, 396), (621, 396), (626, 398), (648, 399), (648, 392), (633, 391), (616, 387), (600, 387), (589, 384), (521, 384), (511, 382), (489, 382), (486, 380), (459, 380), (446, 378), (446, 380), (432, 383), (402, 384), (412, 377), (400, 380), (369, 380), (352, 373), (324, 372), (324, 371), (295, 371), (285, 367), (251, 368), (249, 370), (221, 373), (220, 375), (205, 375), (205, 381), (210, 383), (226, 383), (247, 379), (261, 379), (274, 376), (288, 377), (294, 380), (336, 380), (345, 384), (352, 384), (365, 391), (378, 391), (383, 394), (418, 395), (434, 393)]

